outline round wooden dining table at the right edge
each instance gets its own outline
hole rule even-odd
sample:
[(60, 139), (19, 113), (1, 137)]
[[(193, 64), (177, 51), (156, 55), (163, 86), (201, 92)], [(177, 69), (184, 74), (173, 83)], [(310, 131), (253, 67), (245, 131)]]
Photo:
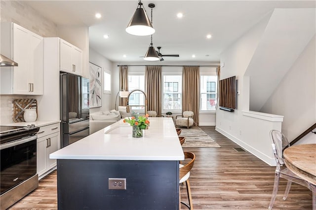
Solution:
[(316, 185), (316, 143), (288, 147), (283, 156), (289, 170)]

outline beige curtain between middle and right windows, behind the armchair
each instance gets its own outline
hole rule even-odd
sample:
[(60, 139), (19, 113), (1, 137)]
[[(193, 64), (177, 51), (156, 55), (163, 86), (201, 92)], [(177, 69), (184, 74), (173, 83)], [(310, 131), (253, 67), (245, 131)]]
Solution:
[(199, 113), (199, 67), (183, 67), (182, 111), (194, 112), (194, 125), (198, 126)]

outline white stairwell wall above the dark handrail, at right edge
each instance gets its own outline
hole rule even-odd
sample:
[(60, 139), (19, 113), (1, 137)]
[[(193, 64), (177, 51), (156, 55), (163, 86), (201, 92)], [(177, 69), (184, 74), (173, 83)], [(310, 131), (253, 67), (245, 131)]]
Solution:
[[(282, 133), (289, 141), (316, 123), (315, 39), (314, 36), (260, 110), (284, 116)], [(316, 143), (316, 135), (310, 133), (304, 142)]]

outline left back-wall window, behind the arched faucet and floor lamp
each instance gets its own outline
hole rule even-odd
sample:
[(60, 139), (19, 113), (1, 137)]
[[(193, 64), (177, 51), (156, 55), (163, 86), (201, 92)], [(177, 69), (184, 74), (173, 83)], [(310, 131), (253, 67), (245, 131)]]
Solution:
[[(145, 91), (144, 75), (128, 75), (128, 91), (140, 89)], [(128, 105), (145, 105), (145, 96), (142, 92), (135, 91), (129, 96)], [(145, 106), (132, 106), (132, 110), (144, 110)]]

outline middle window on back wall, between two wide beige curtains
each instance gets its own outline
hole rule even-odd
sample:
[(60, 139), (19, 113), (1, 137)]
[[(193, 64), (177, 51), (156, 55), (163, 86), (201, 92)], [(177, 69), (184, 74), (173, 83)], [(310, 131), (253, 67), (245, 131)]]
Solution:
[(182, 76), (163, 75), (162, 108), (168, 110), (182, 109)]

